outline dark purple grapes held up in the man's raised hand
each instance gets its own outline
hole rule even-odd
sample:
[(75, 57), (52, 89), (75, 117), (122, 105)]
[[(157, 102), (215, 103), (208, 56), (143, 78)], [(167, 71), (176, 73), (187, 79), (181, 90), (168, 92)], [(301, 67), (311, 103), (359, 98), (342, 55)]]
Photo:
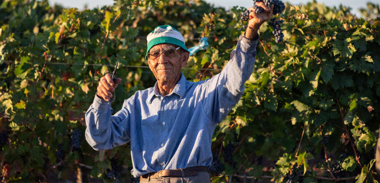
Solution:
[[(273, 15), (281, 14), (285, 9), (285, 4), (281, 0), (253, 0), (253, 8), (257, 14), (261, 13), (264, 9), (260, 6), (257, 6), (256, 2), (264, 2), (268, 7), (273, 4)], [(243, 29), (247, 29), (247, 25), (243, 25), (243, 22), (249, 19), (249, 13), (250, 11), (247, 10), (240, 15), (240, 25), (243, 27)], [(269, 23), (269, 25), (273, 27), (272, 33), (275, 36), (276, 43), (284, 41), (284, 34), (281, 30), (281, 23), (283, 22), (284, 20), (276, 20), (276, 18), (272, 18), (271, 22)]]

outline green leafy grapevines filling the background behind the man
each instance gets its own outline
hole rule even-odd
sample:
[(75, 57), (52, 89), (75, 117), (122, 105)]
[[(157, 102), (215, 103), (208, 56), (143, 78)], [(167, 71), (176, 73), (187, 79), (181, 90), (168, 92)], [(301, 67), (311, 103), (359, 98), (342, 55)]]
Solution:
[[(280, 16), (281, 44), (262, 26), (245, 94), (214, 132), (212, 150), (224, 171), (212, 173), (213, 182), (240, 182), (243, 176), (376, 182), (380, 19), (379, 5), (367, 5), (364, 18), (316, 1), (287, 5)], [(106, 172), (117, 160), (122, 182), (131, 182), (129, 144), (100, 152), (85, 140), (80, 148), (72, 146), (71, 132), (79, 128), (84, 134), (84, 112), (99, 78), (120, 61), (123, 85), (116, 90), (115, 110), (135, 91), (152, 87), (145, 37), (162, 24), (180, 30), (188, 47), (209, 37), (209, 49), (191, 56), (183, 70), (192, 81), (209, 78), (227, 64), (243, 34), (239, 18), (245, 10), (226, 11), (202, 0), (117, 0), (85, 11), (51, 7), (46, 0), (0, 0), (2, 181), (113, 182)], [(225, 153), (230, 147), (233, 161)]]

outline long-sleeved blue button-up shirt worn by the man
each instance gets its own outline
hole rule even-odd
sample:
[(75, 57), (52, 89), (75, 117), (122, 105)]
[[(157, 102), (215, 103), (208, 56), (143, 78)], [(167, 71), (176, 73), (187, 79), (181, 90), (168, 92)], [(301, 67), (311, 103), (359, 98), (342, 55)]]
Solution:
[(181, 73), (174, 90), (162, 96), (154, 87), (124, 101), (114, 115), (111, 102), (95, 96), (86, 112), (86, 140), (95, 150), (131, 141), (134, 177), (163, 169), (210, 166), (211, 138), (243, 95), (253, 72), (258, 40), (240, 37), (219, 74), (190, 82)]

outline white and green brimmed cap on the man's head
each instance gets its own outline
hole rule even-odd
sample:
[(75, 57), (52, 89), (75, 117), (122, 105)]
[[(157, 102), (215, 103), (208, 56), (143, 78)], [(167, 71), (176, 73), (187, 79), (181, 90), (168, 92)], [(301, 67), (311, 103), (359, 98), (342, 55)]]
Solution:
[(161, 43), (174, 44), (189, 52), (189, 50), (185, 46), (185, 38), (177, 29), (175, 29), (171, 25), (161, 25), (154, 28), (154, 30), (147, 36), (147, 41), (148, 48), (147, 53), (145, 54), (145, 59), (148, 59), (149, 50), (154, 45)]

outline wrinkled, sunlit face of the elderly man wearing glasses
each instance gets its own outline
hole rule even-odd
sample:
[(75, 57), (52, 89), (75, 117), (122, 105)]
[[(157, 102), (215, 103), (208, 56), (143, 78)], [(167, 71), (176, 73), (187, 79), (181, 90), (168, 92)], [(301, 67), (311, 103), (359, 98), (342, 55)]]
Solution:
[(179, 77), (181, 68), (185, 67), (188, 61), (189, 53), (181, 53), (181, 49), (173, 50), (175, 53), (172, 56), (166, 56), (162, 53), (163, 50), (170, 50), (170, 48), (176, 49), (178, 46), (167, 43), (157, 44), (149, 51), (150, 53), (160, 52), (156, 58), (148, 55), (149, 68), (159, 81), (175, 80)]

